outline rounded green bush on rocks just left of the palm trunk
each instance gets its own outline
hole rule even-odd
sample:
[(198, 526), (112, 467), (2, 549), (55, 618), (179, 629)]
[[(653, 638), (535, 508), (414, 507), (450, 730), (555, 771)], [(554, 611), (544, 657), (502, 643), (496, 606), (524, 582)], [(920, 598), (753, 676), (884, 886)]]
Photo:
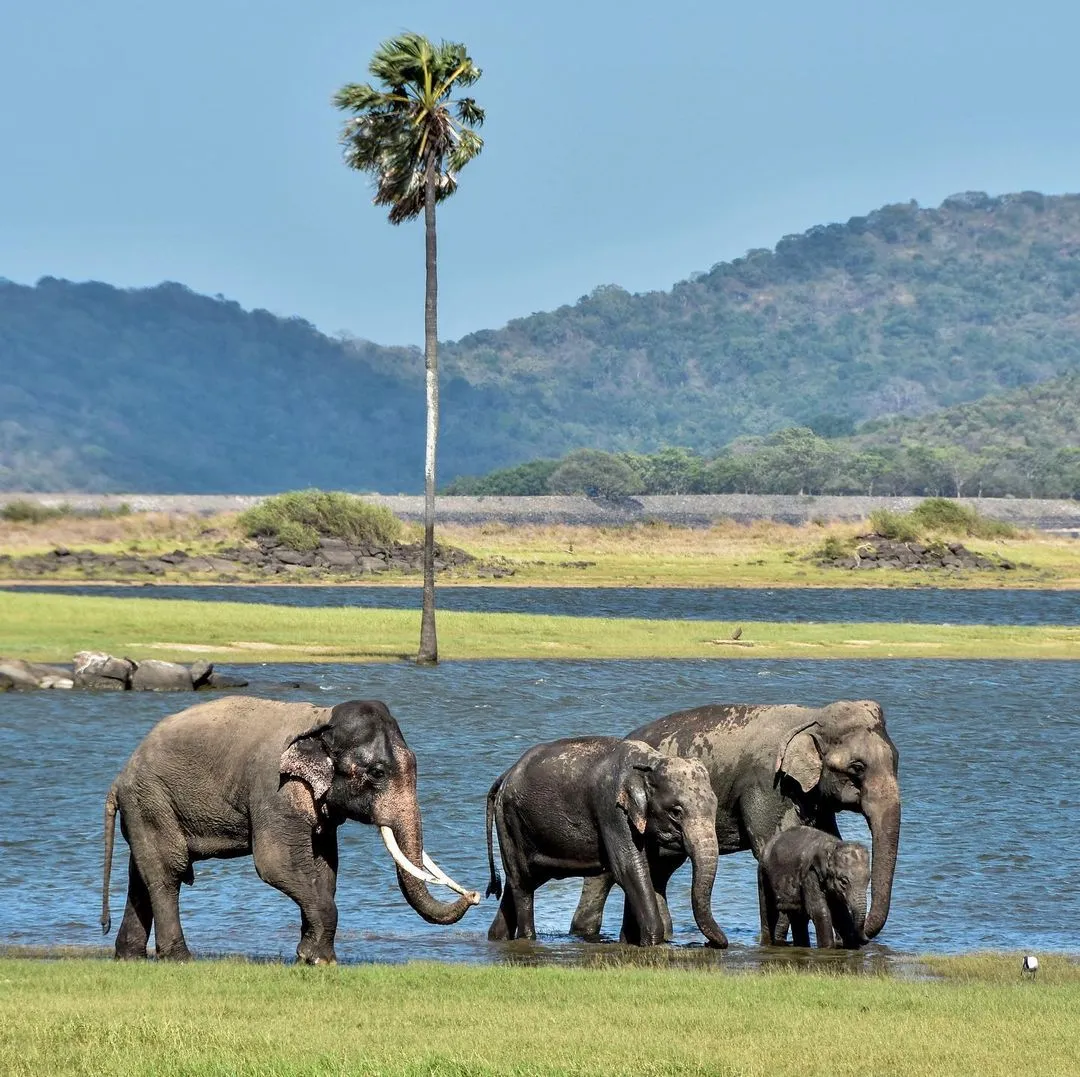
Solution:
[(323, 537), (387, 546), (402, 534), (402, 522), (384, 506), (318, 489), (267, 498), (241, 514), (240, 526), (253, 538), (276, 538), (294, 550), (313, 550)]

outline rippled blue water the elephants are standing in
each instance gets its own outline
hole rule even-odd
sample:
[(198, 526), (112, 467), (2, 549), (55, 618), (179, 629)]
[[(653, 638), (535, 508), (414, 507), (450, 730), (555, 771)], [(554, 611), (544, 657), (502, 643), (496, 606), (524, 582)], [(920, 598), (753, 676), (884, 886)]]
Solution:
[[(985, 948), (1080, 952), (1080, 662), (649, 661), (261, 665), (255, 694), (334, 703), (386, 700), (419, 757), (426, 842), (459, 881), (487, 880), (484, 798), (491, 780), (537, 741), (624, 733), (706, 701), (821, 704), (870, 697), (901, 751), (904, 830), (892, 913), (859, 961)], [(301, 681), (289, 690), (282, 682)], [(106, 791), (146, 731), (189, 699), (42, 691), (0, 698), (0, 945), (102, 945), (102, 815)], [(868, 840), (861, 817), (847, 837)], [(370, 827), (339, 832), (342, 961), (570, 960), (605, 953), (566, 935), (576, 880), (537, 896), (539, 945), (488, 943), (494, 900), (450, 928), (402, 901)], [(126, 846), (117, 835), (112, 911), (119, 923)], [(701, 941), (689, 871), (672, 884), (676, 943)], [(720, 861), (714, 908), (732, 950), (760, 959), (750, 853)], [(605, 930), (617, 934), (619, 900)], [(181, 910), (191, 948), (291, 958), (295, 905), (256, 877), (249, 859), (195, 866)], [(111, 939), (107, 940), (111, 944)], [(704, 956), (697, 948), (686, 956)], [(755, 957), (755, 955), (757, 955)], [(890, 958), (891, 959), (891, 958)]]

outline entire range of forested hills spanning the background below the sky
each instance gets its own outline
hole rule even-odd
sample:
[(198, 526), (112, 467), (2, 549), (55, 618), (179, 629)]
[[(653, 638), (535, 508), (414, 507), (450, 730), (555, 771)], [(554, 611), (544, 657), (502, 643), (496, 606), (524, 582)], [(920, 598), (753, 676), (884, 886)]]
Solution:
[[(529, 481), (546, 483), (576, 449), (630, 454), (640, 472), (686, 446), (725, 488), (1064, 494), (1080, 196), (885, 206), (670, 292), (596, 288), (444, 344), (442, 365), (444, 479), (541, 461)], [(178, 284), (46, 278), (0, 281), (0, 488), (421, 485), (410, 348)], [(779, 467), (793, 455), (816, 463)]]

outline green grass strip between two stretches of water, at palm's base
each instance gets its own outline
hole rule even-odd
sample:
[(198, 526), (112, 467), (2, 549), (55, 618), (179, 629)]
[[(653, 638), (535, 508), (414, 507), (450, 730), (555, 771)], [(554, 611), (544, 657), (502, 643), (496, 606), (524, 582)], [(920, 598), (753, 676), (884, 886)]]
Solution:
[[(216, 661), (409, 657), (419, 611), (0, 592), (0, 655), (68, 661), (78, 650)], [(1080, 627), (646, 621), (438, 615), (440, 656), (477, 658), (1080, 658)]]

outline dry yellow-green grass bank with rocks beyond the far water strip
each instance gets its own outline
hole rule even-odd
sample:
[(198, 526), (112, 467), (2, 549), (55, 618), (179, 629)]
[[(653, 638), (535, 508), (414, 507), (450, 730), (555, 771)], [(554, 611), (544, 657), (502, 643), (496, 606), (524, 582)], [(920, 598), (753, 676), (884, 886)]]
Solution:
[[(514, 575), (500, 579), (498, 585), (1080, 588), (1080, 542), (1040, 533), (963, 540), (977, 552), (1008, 557), (1017, 566), (1011, 571), (851, 571), (823, 567), (813, 560), (814, 551), (827, 539), (846, 542), (867, 526), (825, 522), (791, 526), (770, 521), (752, 524), (718, 521), (708, 528), (652, 522), (612, 527), (491, 523), (440, 527), (438, 539), (467, 550), (482, 563), (512, 568)], [(419, 528), (406, 525), (403, 537), (417, 540)], [(65, 516), (40, 524), (0, 521), (0, 554), (12, 556), (45, 553), (56, 547), (140, 557), (158, 556), (179, 547), (194, 555), (215, 555), (245, 541), (234, 514), (210, 519), (164, 513), (134, 513), (107, 520)], [(247, 581), (268, 579), (243, 565), (237, 565), (230, 575)], [(0, 562), (0, 578), (19, 578), (18, 566)], [(72, 569), (42, 577), (85, 578)], [(190, 582), (216, 578), (216, 574), (192, 577), (174, 570), (157, 579)], [(309, 570), (300, 569), (269, 579), (297, 583), (313, 577)], [(475, 568), (455, 569), (440, 579), (443, 585), (490, 582)], [(322, 582), (350, 582), (350, 579), (323, 577)], [(364, 578), (364, 582), (416, 585), (419, 580), (379, 574)]]

